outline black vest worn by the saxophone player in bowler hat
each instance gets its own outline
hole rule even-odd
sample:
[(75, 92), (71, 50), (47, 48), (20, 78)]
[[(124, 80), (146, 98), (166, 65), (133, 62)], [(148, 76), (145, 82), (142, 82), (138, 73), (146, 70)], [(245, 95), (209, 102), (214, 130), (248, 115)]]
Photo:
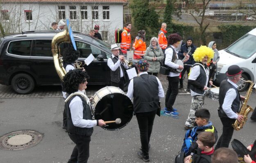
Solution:
[(229, 83), (229, 81), (223, 80), (220, 83), (220, 96), (219, 96), (219, 104), (220, 104), (220, 115), (219, 116), (220, 117), (228, 117), (226, 115), (226, 113), (223, 111), (222, 105), (223, 105), (224, 98), (225, 98), (225, 95), (226, 95), (227, 91), (231, 88), (236, 90), (236, 99), (232, 102), (231, 109), (233, 110), (233, 112), (239, 112), (239, 109), (240, 109), (240, 94), (239, 94), (237, 88), (235, 88), (231, 83)]

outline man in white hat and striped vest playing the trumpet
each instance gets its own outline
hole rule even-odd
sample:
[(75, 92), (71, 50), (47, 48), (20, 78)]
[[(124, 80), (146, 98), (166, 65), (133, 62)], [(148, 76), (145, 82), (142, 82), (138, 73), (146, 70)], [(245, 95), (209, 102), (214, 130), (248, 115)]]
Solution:
[(124, 63), (125, 56), (119, 55), (119, 49), (120, 47), (118, 47), (117, 44), (111, 45), (112, 56), (108, 59), (108, 66), (111, 69), (111, 86), (119, 87), (124, 90), (125, 69), (129, 67), (127, 63)]

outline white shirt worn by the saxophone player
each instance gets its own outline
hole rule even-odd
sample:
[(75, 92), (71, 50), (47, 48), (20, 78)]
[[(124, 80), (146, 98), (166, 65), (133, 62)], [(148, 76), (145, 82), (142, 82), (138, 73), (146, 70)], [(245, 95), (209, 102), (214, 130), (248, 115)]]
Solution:
[[(234, 83), (233, 81), (228, 79), (228, 82), (230, 84), (232, 84), (235, 88), (238, 88), (238, 86), (236, 85), (236, 83)], [(230, 88), (224, 98), (224, 102), (222, 104), (222, 109), (223, 111), (226, 113), (226, 115), (231, 118), (231, 119), (237, 119), (238, 115), (233, 112), (233, 110), (231, 109), (231, 105), (233, 103), (233, 101), (236, 99), (236, 90), (234, 88)]]

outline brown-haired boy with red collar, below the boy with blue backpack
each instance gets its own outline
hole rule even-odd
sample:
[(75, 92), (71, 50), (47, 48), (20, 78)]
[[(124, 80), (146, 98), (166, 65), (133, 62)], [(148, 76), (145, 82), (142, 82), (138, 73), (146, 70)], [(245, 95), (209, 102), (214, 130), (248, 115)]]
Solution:
[(198, 134), (198, 149), (194, 150), (184, 159), (184, 163), (211, 163), (211, 155), (214, 152), (215, 137), (212, 132)]

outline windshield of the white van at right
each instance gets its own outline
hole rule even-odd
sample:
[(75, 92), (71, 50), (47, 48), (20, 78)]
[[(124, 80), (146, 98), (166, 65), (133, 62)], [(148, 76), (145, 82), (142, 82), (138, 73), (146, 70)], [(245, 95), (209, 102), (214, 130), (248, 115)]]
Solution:
[(226, 48), (225, 51), (237, 57), (247, 59), (256, 53), (255, 42), (256, 36), (247, 33), (234, 44)]

